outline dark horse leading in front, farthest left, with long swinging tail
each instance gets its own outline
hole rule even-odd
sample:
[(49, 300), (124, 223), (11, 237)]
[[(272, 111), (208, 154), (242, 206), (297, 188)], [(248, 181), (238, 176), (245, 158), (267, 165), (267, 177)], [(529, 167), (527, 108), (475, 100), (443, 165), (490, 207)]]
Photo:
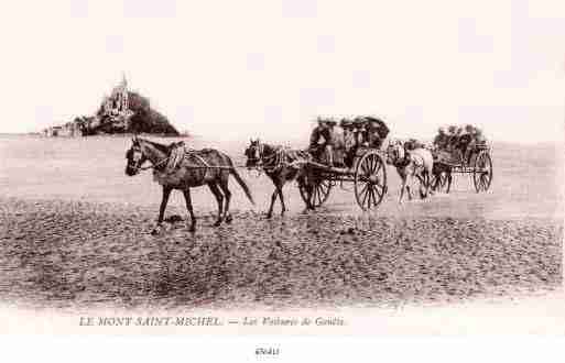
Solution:
[[(251, 191), (239, 176), (229, 156), (214, 148), (203, 148), (188, 151), (178, 158), (176, 157), (178, 153), (172, 153), (173, 146), (177, 144), (167, 146), (149, 140), (134, 138), (132, 139), (131, 147), (126, 154), (126, 158), (128, 160), (126, 166), (127, 175), (137, 175), (142, 169), (143, 163), (149, 161), (152, 164), (150, 167), (153, 168), (154, 180), (163, 186), (163, 198), (159, 210), (157, 226), (153, 230), (153, 233), (157, 233), (163, 223), (169, 196), (173, 189), (183, 191), (186, 208), (191, 215), (192, 223), (189, 230), (192, 232), (196, 230), (196, 218), (191, 200), (192, 187), (207, 185), (216, 197), (216, 201), (218, 202), (218, 217), (214, 223), (216, 227), (222, 221), (229, 223), (232, 220), (229, 213), (229, 202), (231, 199), (231, 193), (228, 188), (229, 175), (236, 178), (246, 196), (251, 204), (254, 205)], [(171, 163), (172, 161), (174, 161), (174, 163)], [(225, 205), (224, 199), (226, 199)]]

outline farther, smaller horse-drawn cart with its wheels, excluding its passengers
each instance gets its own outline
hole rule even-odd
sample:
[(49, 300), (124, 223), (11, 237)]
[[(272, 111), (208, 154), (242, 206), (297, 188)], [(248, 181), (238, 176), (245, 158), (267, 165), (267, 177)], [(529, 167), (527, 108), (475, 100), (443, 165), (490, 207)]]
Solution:
[(460, 151), (436, 151), (434, 154), (434, 173), (432, 186), (435, 190), (449, 193), (452, 174), (468, 174), (471, 176), (477, 193), (487, 191), (492, 184), (492, 158), (487, 143), (474, 145), (464, 155)]

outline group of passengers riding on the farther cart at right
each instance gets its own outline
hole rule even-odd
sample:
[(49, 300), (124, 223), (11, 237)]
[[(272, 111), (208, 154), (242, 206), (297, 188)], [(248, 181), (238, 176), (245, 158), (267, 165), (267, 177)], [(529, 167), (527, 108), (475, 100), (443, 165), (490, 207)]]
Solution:
[(469, 164), (474, 153), (478, 147), (485, 146), (487, 140), (482, 131), (475, 125), (452, 124), (447, 128), (439, 128), (433, 144), (437, 158), (458, 160), (464, 164)]

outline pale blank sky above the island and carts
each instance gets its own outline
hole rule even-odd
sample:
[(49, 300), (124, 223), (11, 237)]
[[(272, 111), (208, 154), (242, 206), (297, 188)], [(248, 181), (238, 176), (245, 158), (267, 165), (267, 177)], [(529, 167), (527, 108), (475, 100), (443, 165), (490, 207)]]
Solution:
[(126, 73), (178, 130), (307, 136), (317, 114), (394, 135), (475, 123), (562, 141), (563, 0), (13, 1), (0, 11), (0, 132), (91, 114)]

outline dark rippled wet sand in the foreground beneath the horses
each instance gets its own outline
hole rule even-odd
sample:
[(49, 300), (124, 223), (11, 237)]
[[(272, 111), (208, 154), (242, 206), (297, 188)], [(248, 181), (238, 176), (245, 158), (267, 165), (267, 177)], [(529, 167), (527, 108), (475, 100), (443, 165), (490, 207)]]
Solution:
[(162, 235), (146, 209), (2, 200), (0, 295), (31, 306), (272, 307), (454, 301), (562, 284), (551, 220), (210, 217)]

